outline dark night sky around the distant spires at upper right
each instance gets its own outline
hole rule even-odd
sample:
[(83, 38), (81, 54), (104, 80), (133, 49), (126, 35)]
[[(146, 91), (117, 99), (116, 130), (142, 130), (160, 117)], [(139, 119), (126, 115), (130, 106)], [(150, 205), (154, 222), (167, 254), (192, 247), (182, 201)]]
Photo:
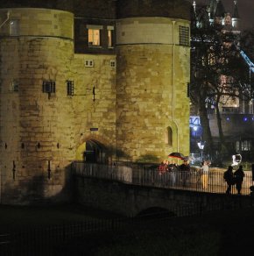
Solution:
[[(193, 0), (189, 0), (193, 3)], [(208, 4), (209, 0), (195, 0), (196, 4)], [(225, 11), (233, 11), (234, 0), (222, 0)], [(254, 0), (238, 0), (238, 12), (243, 29), (254, 28)]]

